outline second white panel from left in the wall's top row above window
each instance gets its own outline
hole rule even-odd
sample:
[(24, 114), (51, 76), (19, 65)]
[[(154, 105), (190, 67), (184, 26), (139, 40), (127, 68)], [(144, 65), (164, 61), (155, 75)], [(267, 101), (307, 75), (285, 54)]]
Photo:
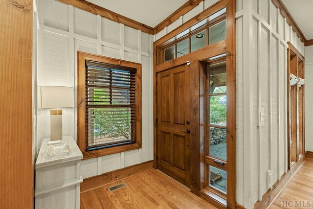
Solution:
[(96, 39), (97, 16), (75, 7), (74, 33)]

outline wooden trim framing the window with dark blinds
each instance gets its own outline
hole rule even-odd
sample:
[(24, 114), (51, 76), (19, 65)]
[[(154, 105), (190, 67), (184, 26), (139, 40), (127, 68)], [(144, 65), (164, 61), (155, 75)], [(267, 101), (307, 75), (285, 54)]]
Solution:
[[(114, 146), (104, 149), (98, 149), (93, 151), (86, 151), (86, 130), (85, 130), (85, 111), (86, 111), (86, 98), (85, 98), (85, 75), (86, 75), (86, 60), (97, 61), (108, 63), (112, 65), (118, 65), (128, 68), (135, 68), (136, 77), (136, 104), (135, 104), (135, 114), (136, 114), (136, 135), (135, 143)], [(84, 160), (90, 158), (96, 158), (104, 155), (110, 155), (114, 153), (134, 150), (141, 148), (141, 64), (114, 59), (110, 57), (85, 53), (77, 51), (77, 144), (83, 153)]]

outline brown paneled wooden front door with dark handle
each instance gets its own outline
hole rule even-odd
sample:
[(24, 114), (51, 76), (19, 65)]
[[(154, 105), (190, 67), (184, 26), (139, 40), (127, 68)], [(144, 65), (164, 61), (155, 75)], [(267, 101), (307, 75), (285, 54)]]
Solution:
[(157, 169), (190, 187), (190, 66), (156, 75)]

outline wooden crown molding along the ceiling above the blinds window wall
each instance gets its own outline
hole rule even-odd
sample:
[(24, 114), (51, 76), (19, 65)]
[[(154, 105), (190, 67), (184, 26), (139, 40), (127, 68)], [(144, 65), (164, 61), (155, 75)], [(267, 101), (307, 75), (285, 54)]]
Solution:
[(134, 21), (130, 18), (127, 18), (127, 17), (120, 15), (120, 14), (117, 14), (115, 12), (112, 12), (112, 11), (105, 9), (101, 6), (98, 6), (94, 3), (90, 3), (87, 0), (59, 0), (59, 1), (73, 5), (79, 9), (85, 10), (85, 11), (90, 12), (92, 14), (100, 15), (100, 16), (107, 18), (109, 20), (112, 20), (116, 23), (123, 23), (124, 25), (132, 27), (134, 29), (141, 30), (142, 32), (145, 32), (148, 34), (154, 34), (154, 28), (153, 27), (150, 27), (150, 26), (145, 25), (143, 23), (139, 23), (137, 21)]

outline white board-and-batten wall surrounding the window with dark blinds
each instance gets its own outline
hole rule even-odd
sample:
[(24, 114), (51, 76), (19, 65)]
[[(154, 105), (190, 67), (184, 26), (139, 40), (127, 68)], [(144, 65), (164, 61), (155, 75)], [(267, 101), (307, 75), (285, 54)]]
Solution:
[[(77, 91), (77, 51), (142, 64), (142, 149), (82, 161), (83, 178), (153, 160), (153, 36), (56, 0), (38, 2), (37, 86)], [(50, 137), (50, 110), (37, 111), (38, 152)], [(63, 136), (77, 136), (77, 109), (63, 109)]]

